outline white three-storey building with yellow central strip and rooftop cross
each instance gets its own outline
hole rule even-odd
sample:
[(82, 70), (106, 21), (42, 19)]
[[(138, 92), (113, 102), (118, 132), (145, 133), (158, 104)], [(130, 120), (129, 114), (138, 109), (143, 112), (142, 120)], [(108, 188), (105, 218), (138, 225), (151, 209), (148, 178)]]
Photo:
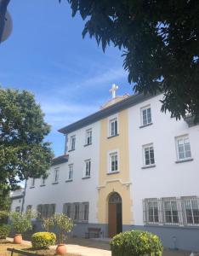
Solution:
[(65, 212), (74, 236), (141, 229), (165, 247), (199, 250), (199, 125), (162, 113), (161, 99), (113, 97), (60, 129), (65, 154), (46, 180), (27, 181), (24, 209)]

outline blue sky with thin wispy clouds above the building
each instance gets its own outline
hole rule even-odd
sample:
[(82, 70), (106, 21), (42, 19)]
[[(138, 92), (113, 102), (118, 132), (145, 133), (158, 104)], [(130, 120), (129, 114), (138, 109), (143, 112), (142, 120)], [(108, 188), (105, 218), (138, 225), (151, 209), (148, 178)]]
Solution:
[(52, 126), (47, 139), (63, 154), (59, 128), (99, 110), (111, 84), (118, 95), (132, 93), (122, 52), (111, 46), (104, 54), (94, 38), (82, 39), (84, 21), (71, 18), (66, 0), (11, 0), (9, 12), (14, 29), (0, 45), (0, 84), (36, 96)]

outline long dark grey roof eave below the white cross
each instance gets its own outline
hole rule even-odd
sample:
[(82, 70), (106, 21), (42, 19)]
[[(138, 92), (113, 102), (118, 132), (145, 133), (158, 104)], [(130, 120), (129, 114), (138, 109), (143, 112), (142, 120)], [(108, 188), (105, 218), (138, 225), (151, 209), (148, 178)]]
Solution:
[(117, 102), (107, 108), (103, 108), (101, 110), (99, 110), (96, 113), (93, 113), (91, 115), (88, 115), (87, 117), (78, 120), (75, 123), (72, 123), (71, 125), (67, 125), (63, 128), (61, 128), (60, 131), (61, 133), (69, 133), (72, 131), (77, 131), (78, 129), (93, 124), (94, 122), (98, 121), (99, 119), (104, 119), (108, 116), (110, 116), (111, 114), (117, 113), (123, 109), (132, 107), (140, 102), (145, 102), (148, 99), (151, 99), (152, 97), (154, 97), (151, 94), (135, 94), (133, 96), (128, 96), (127, 98), (123, 99), (120, 102)]

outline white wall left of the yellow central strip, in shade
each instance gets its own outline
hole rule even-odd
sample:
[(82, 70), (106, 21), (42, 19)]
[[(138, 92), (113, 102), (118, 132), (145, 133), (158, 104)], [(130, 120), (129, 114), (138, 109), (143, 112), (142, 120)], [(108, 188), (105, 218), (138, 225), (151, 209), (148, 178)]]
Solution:
[[(85, 144), (86, 130), (92, 128), (93, 143), (87, 147)], [(26, 187), (25, 207), (32, 205), (37, 209), (39, 204), (56, 204), (56, 212), (62, 212), (63, 204), (66, 202), (89, 202), (89, 223), (97, 222), (97, 186), (99, 172), (99, 122), (88, 125), (71, 134), (68, 134), (68, 143), (71, 135), (76, 135), (76, 149), (68, 152), (69, 161), (58, 165), (60, 167), (59, 183), (54, 182), (54, 167), (49, 170), (49, 176), (46, 180), (46, 186), (41, 187), (41, 179), (36, 179), (35, 188), (31, 189), (31, 180), (29, 179)], [(65, 143), (63, 137), (63, 143)], [(84, 171), (84, 160), (91, 159), (91, 177), (82, 179)], [(74, 164), (73, 181), (65, 183), (68, 178), (68, 165)]]

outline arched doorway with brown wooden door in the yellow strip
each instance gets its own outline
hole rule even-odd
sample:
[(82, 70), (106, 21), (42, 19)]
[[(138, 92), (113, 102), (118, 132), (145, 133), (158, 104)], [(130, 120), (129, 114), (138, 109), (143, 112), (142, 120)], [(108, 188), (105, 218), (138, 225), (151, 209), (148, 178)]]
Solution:
[(122, 198), (117, 193), (109, 197), (109, 237), (122, 232)]

